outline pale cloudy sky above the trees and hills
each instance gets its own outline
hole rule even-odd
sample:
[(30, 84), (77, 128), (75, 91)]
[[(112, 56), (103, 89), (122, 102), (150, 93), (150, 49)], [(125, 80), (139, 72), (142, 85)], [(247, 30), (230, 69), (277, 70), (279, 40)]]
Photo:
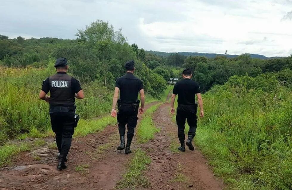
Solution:
[(0, 34), (75, 39), (95, 20), (164, 52), (292, 54), (292, 0), (5, 0)]

